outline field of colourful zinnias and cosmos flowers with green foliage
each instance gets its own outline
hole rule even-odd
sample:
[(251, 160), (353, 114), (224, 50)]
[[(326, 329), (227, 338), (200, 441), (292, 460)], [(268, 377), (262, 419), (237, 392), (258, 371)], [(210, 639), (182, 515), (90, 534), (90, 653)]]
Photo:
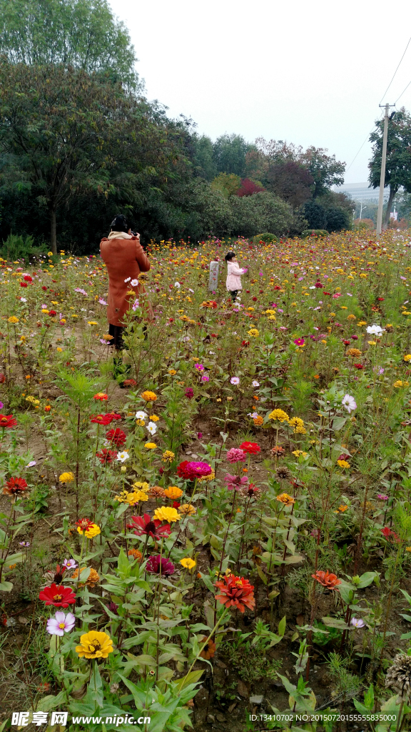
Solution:
[(0, 732), (410, 729), (411, 234), (364, 236), (152, 244), (118, 354), (98, 256), (0, 259)]

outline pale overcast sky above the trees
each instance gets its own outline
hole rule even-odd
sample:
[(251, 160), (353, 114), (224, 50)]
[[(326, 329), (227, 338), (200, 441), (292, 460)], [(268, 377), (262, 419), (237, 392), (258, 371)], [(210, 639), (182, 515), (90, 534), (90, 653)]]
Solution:
[[(328, 148), (366, 181), (363, 141), (411, 81), (411, 4), (396, 0), (110, 0), (149, 99), (215, 139), (236, 132)], [(411, 84), (397, 108), (411, 109)], [(358, 153), (354, 162), (353, 159)], [(350, 167), (349, 167), (350, 166)]]

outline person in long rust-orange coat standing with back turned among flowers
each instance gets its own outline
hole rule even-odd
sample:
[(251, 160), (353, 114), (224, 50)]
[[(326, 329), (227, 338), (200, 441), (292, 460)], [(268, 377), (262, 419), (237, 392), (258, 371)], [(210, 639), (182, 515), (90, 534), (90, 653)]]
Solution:
[[(140, 244), (140, 234), (131, 233), (123, 214), (111, 223), (108, 238), (100, 242), (100, 253), (108, 271), (108, 332), (113, 336), (111, 343), (119, 350), (124, 346), (124, 315), (137, 299), (147, 320), (154, 320), (144, 285), (138, 281), (140, 272), (150, 269), (150, 262)], [(129, 294), (131, 291), (135, 296)]]

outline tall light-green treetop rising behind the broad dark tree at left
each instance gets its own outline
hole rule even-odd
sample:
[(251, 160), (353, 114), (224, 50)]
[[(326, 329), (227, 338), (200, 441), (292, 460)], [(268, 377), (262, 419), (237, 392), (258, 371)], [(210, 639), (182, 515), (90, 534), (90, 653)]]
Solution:
[(0, 54), (14, 64), (64, 64), (137, 84), (129, 33), (108, 0), (0, 0)]

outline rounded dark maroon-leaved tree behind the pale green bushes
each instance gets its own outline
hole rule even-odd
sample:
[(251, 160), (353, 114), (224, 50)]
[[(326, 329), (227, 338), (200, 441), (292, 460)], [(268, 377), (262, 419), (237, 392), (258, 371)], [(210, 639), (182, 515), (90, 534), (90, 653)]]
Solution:
[(291, 206), (301, 206), (312, 198), (314, 178), (309, 170), (294, 160), (268, 165), (265, 173), (265, 186), (279, 195)]

